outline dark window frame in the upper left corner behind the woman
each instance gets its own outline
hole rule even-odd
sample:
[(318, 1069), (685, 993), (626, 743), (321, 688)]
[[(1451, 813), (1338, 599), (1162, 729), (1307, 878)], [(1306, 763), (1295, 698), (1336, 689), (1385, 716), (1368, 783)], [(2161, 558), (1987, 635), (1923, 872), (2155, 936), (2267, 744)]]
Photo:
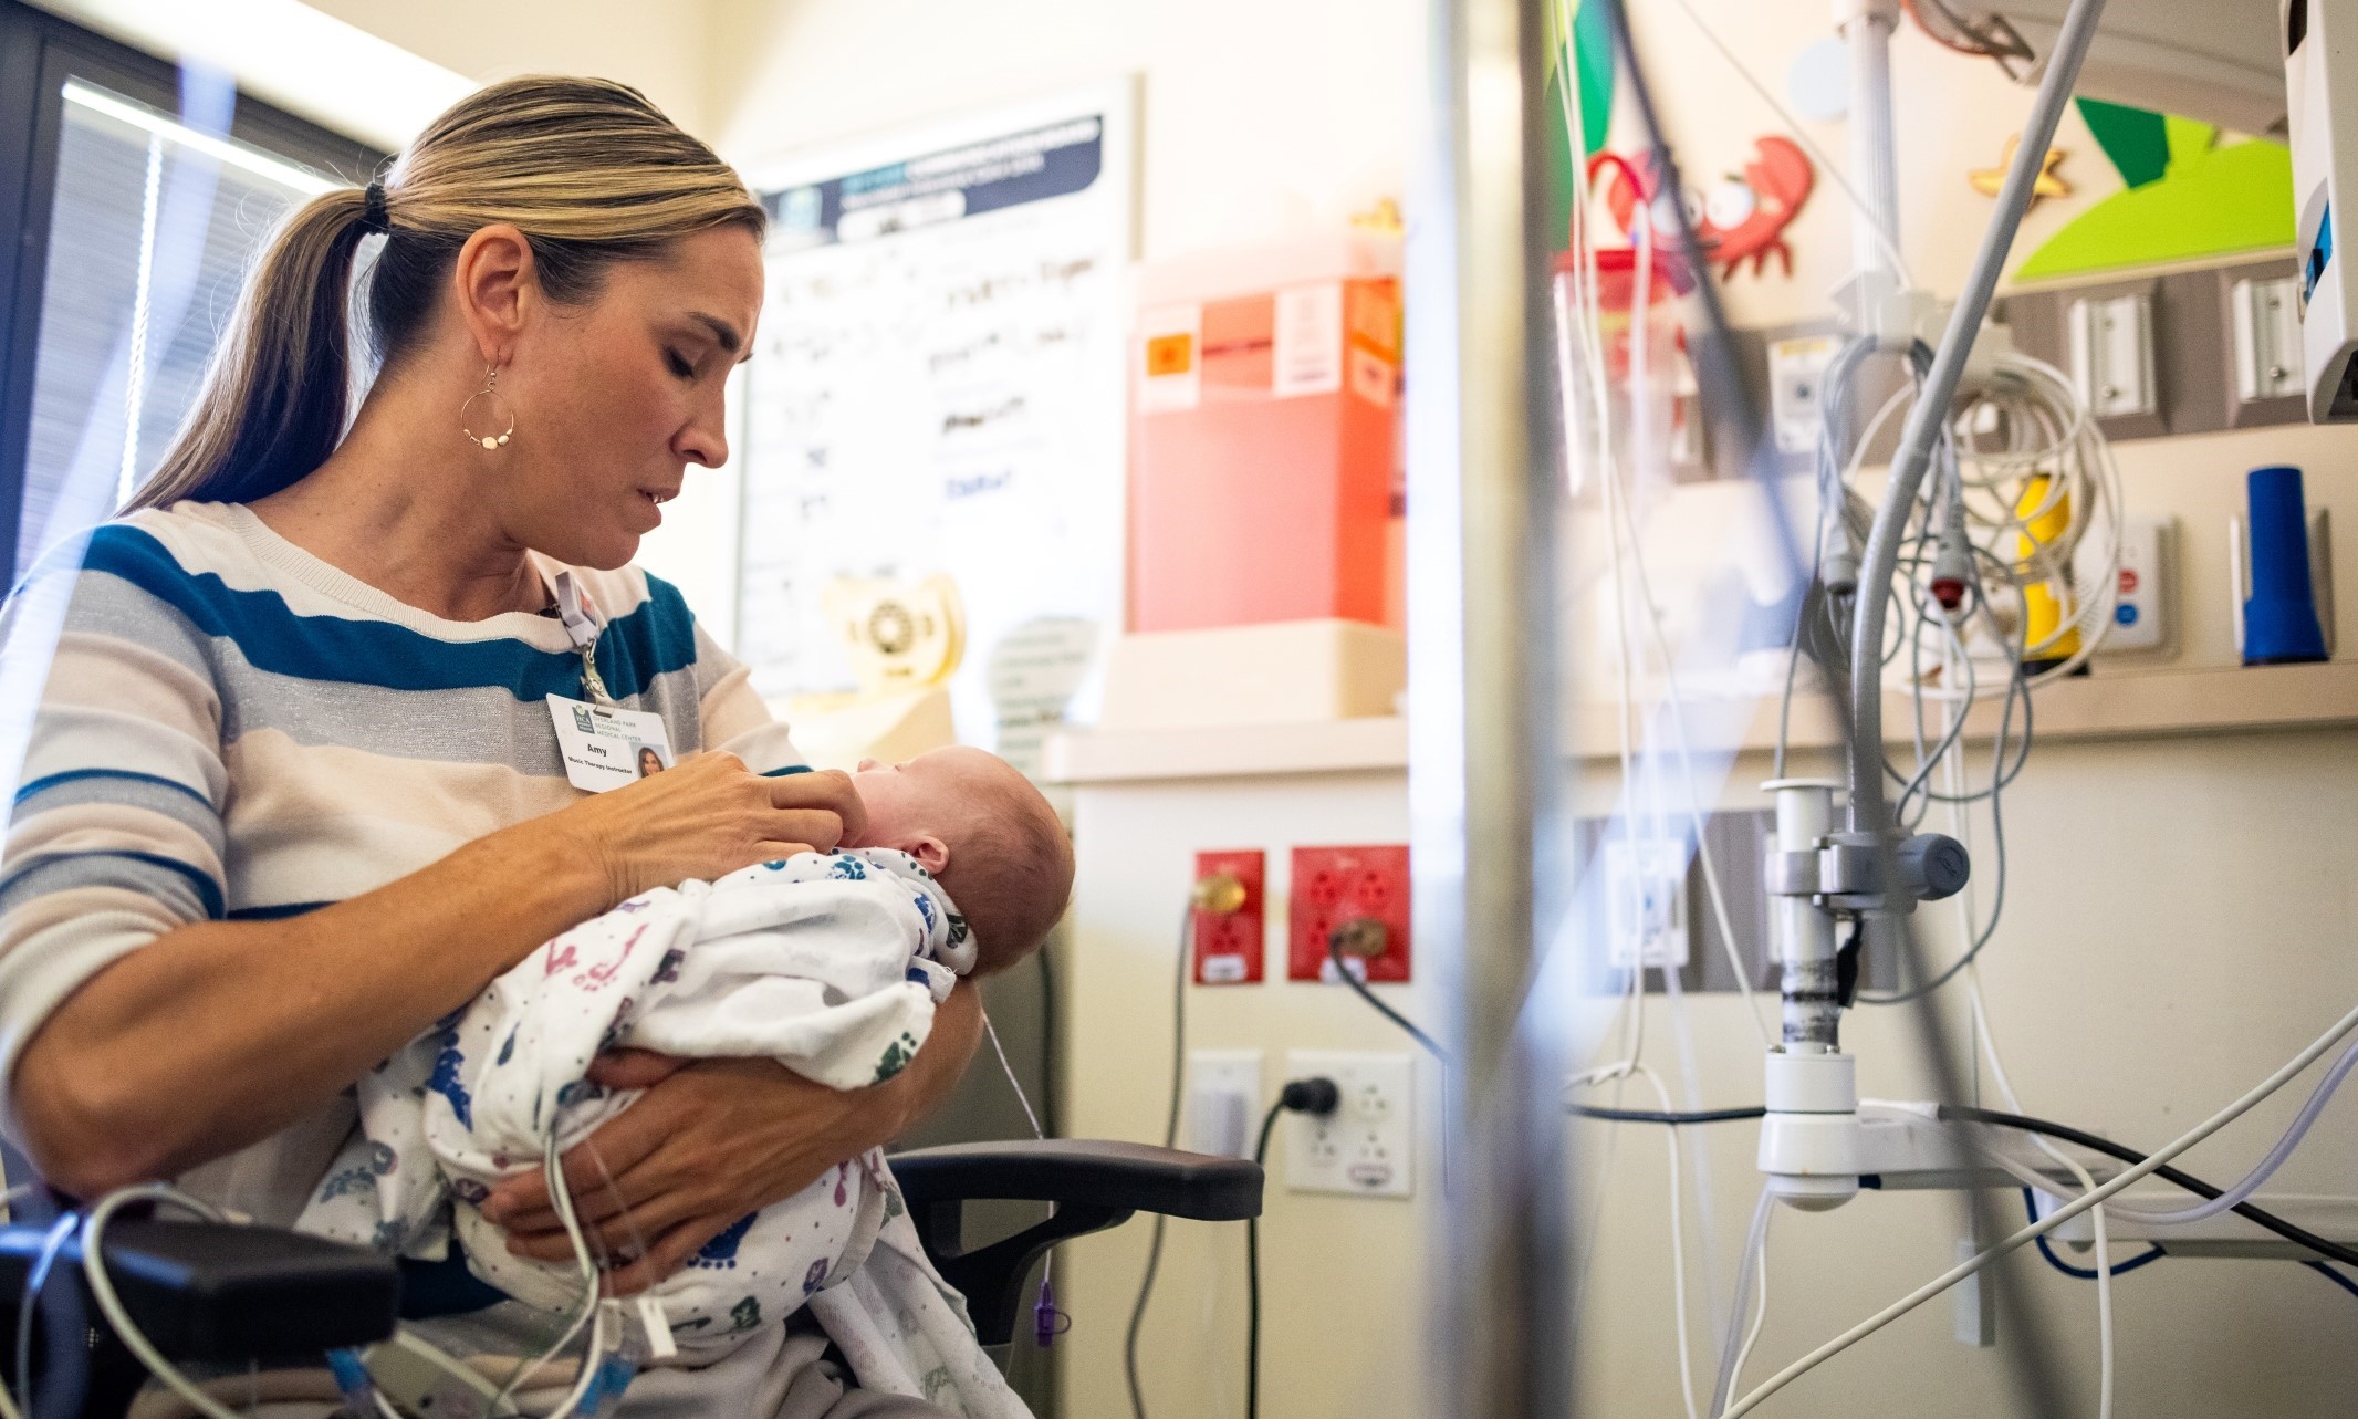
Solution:
[[(0, 563), (9, 568), (7, 585), (21, 573), (14, 561), (68, 78), (83, 78), (160, 113), (179, 113), (177, 64), (21, 0), (0, 0), (0, 236), (14, 233), (14, 240), (0, 240)], [(243, 90), (229, 137), (354, 184), (368, 182), (387, 163), (387, 153), (295, 118)]]

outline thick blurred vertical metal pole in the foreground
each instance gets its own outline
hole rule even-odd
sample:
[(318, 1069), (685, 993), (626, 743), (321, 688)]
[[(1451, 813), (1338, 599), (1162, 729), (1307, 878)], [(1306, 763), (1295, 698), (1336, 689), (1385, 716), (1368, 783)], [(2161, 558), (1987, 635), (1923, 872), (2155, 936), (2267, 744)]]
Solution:
[[(1526, 1018), (1559, 922), (1537, 0), (1434, 0), (1434, 113), (1408, 236), (1408, 724), (1417, 938), (1438, 969), (1448, 1249), (1431, 1414), (1570, 1414), (1563, 1047)], [(1552, 926), (1549, 926), (1552, 929)]]

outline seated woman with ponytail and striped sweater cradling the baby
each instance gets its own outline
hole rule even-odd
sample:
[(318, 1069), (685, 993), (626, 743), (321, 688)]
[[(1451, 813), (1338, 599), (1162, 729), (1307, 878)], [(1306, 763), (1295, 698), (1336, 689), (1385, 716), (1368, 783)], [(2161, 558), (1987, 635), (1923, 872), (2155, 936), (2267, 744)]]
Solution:
[[(745, 667), (630, 566), (689, 467), (726, 460), (762, 229), (710, 148), (575, 78), (481, 90), (285, 222), (156, 476), (28, 580), (66, 613), (0, 853), (0, 1124), (52, 1186), (179, 1179), (288, 1223), (354, 1080), (535, 945), (858, 830), (849, 780), (802, 773)], [(575, 787), (559, 740), (587, 700), (674, 766)], [(613, 1289), (898, 1134), (979, 1018), (960, 990), (856, 1094), (604, 1061), (648, 1089), (566, 1162), (632, 1256)], [(571, 1256), (538, 1181), (483, 1212)], [(830, 1407), (821, 1346), (776, 1329), (648, 1374), (627, 1412), (936, 1412)]]

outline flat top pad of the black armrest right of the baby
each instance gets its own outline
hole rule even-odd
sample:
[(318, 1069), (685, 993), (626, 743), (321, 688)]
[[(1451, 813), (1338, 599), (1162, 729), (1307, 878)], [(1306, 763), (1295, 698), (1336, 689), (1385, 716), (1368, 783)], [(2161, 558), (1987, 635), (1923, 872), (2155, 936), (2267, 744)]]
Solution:
[(1073, 1202), (1193, 1221), (1262, 1214), (1262, 1164), (1101, 1138), (948, 1143), (891, 1155), (910, 1202)]

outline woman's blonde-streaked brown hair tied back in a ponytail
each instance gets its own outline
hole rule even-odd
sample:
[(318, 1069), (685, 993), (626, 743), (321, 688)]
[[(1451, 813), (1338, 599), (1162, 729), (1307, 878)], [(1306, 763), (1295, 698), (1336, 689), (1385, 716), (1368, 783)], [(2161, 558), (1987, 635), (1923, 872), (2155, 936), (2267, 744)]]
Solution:
[(627, 85), (531, 75), (479, 90), (436, 118), (382, 189), (297, 207), (245, 280), (205, 389), (125, 512), (184, 497), (252, 502), (323, 464), (351, 389), (351, 259), (382, 229), (368, 276), (368, 332), (396, 368), (432, 323), (467, 238), (512, 222), (559, 304), (597, 297), (613, 262), (660, 257), (698, 231), (743, 224), (762, 203), (712, 148)]

